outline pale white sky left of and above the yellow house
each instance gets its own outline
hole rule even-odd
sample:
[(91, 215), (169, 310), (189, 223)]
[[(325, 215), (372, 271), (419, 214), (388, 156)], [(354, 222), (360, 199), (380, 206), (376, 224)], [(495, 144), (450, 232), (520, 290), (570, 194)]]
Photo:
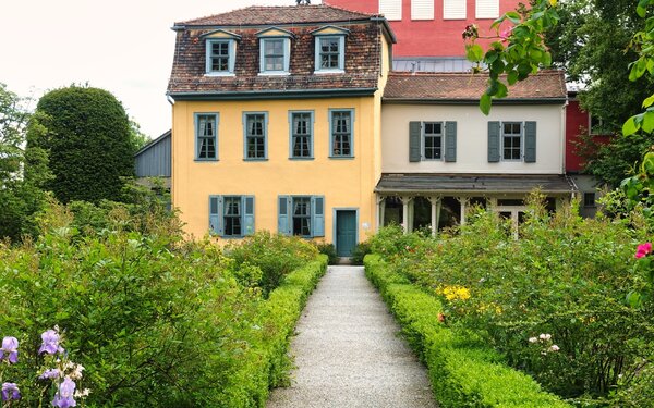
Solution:
[(107, 89), (156, 138), (171, 126), (170, 27), (253, 4), (295, 0), (0, 0), (0, 83), (35, 103), (71, 84)]

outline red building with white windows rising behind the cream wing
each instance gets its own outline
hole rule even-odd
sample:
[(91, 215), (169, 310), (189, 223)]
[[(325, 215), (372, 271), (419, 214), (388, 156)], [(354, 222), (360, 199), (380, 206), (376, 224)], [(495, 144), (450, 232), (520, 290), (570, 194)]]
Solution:
[[(480, 35), (487, 36), (493, 21), (516, 10), (520, 0), (323, 0), (323, 3), (384, 14), (398, 38), (393, 57), (404, 59), (465, 55), (461, 37), (465, 26), (474, 23)], [(488, 41), (481, 44), (484, 42)]]

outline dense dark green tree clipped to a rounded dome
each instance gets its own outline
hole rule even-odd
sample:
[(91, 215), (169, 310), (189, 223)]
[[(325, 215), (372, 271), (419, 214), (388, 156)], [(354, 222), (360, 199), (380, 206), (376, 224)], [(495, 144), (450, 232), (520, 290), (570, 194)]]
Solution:
[(120, 200), (122, 177), (134, 175), (135, 146), (122, 104), (104, 89), (71, 86), (44, 95), (36, 111), (47, 129), (29, 147), (49, 153), (47, 184), (63, 202)]

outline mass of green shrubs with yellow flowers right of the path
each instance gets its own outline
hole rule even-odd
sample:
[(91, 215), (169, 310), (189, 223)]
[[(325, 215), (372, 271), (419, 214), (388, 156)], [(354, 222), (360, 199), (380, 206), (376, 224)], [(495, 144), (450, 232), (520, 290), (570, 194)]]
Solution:
[[(440, 297), (450, 324), (473, 330), (550, 392), (606, 397), (640, 371), (654, 351), (654, 321), (625, 300), (638, 283), (634, 243), (652, 234), (642, 213), (628, 223), (582, 220), (571, 208), (550, 215), (536, 200), (518, 240), (496, 214), (469, 221), (457, 235), (387, 259)], [(552, 343), (529, 342), (540, 334)]]

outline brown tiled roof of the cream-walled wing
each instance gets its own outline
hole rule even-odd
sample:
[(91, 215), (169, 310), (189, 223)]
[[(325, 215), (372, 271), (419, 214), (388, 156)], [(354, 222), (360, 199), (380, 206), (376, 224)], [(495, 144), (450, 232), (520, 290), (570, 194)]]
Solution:
[[(400, 73), (388, 77), (386, 101), (476, 101), (487, 87), (486, 74)], [(509, 87), (507, 100), (565, 100), (562, 71), (546, 70)]]

